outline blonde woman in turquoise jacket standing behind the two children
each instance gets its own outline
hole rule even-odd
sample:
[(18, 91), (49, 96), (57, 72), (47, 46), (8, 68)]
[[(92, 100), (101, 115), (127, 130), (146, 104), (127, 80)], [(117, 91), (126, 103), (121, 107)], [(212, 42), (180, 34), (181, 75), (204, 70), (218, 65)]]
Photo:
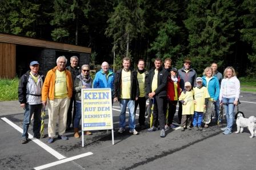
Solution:
[[(210, 95), (210, 98), (206, 100), (206, 111), (205, 115), (203, 115), (203, 123), (205, 123), (205, 128), (208, 128), (208, 124), (211, 122), (214, 102), (216, 102), (219, 98), (219, 80), (216, 76), (213, 76), (213, 69), (211, 67), (205, 68), (205, 71), (203, 71), (202, 80), (203, 86), (207, 88)], [(217, 117), (218, 115), (215, 116)]]

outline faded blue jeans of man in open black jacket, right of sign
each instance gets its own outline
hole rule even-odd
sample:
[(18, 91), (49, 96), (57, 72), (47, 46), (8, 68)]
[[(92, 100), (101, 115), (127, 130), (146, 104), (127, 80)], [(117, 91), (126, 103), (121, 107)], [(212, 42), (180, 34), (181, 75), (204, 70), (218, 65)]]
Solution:
[(129, 110), (129, 128), (131, 131), (135, 128), (135, 100), (129, 99), (120, 99), (120, 109), (121, 113), (119, 116), (119, 127), (125, 128), (125, 114), (126, 114), (126, 107)]

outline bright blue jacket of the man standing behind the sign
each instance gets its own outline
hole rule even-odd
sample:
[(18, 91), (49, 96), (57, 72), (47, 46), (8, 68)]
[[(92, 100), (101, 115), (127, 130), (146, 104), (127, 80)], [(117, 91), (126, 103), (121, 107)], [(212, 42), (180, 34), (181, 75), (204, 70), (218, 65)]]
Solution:
[(109, 69), (109, 74), (106, 76), (101, 69), (95, 75), (93, 80), (93, 88), (111, 88), (111, 94), (113, 96), (114, 79), (115, 76), (112, 70)]

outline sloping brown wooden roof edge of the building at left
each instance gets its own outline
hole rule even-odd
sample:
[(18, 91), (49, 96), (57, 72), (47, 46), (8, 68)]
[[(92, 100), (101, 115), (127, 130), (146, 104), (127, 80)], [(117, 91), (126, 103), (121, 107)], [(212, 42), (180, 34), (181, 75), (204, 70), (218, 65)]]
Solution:
[(41, 39), (22, 37), (18, 35), (10, 35), (0, 33), (0, 42), (12, 43), (12, 44), (20, 44), (25, 46), (33, 46), (33, 47), (43, 47), (43, 48), (54, 48), (58, 50), (66, 50), (72, 52), (85, 52), (91, 53), (91, 48), (75, 46), (71, 44), (58, 43), (53, 41), (45, 41)]

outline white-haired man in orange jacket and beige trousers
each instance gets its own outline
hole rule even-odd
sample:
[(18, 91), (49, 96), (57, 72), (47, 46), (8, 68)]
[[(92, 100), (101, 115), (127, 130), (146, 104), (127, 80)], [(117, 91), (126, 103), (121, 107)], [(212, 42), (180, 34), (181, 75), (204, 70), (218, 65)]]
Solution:
[[(48, 143), (53, 143), (56, 123), (58, 122), (58, 137), (67, 140), (64, 136), (67, 123), (67, 110), (72, 97), (73, 84), (70, 71), (65, 69), (67, 59), (59, 56), (57, 66), (47, 72), (42, 89), (42, 103), (45, 106), (48, 99)], [(58, 119), (58, 121), (57, 121)]]

